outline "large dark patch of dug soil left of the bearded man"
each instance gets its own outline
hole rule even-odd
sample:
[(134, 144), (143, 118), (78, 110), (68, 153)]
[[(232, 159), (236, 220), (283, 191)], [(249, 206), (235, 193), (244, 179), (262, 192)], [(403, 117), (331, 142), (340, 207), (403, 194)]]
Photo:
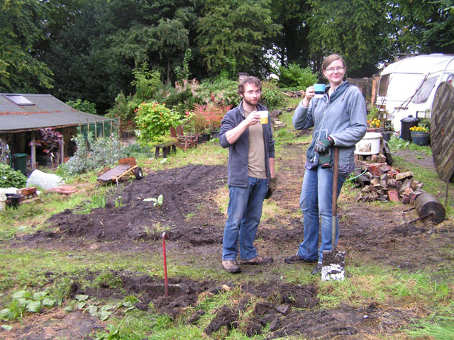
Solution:
[[(104, 209), (88, 215), (65, 210), (47, 222), (51, 232), (38, 232), (24, 237), (26, 242), (45, 242), (56, 237), (84, 237), (96, 241), (125, 239), (160, 239), (162, 231), (172, 240), (184, 237), (193, 245), (222, 242), (218, 225), (223, 215), (209, 196), (226, 184), (224, 166), (189, 165), (148, 174), (140, 181), (125, 183), (111, 196)], [(163, 196), (160, 206), (145, 198)], [(189, 214), (203, 206), (203, 215), (186, 221)], [(209, 218), (206, 218), (209, 216)]]

